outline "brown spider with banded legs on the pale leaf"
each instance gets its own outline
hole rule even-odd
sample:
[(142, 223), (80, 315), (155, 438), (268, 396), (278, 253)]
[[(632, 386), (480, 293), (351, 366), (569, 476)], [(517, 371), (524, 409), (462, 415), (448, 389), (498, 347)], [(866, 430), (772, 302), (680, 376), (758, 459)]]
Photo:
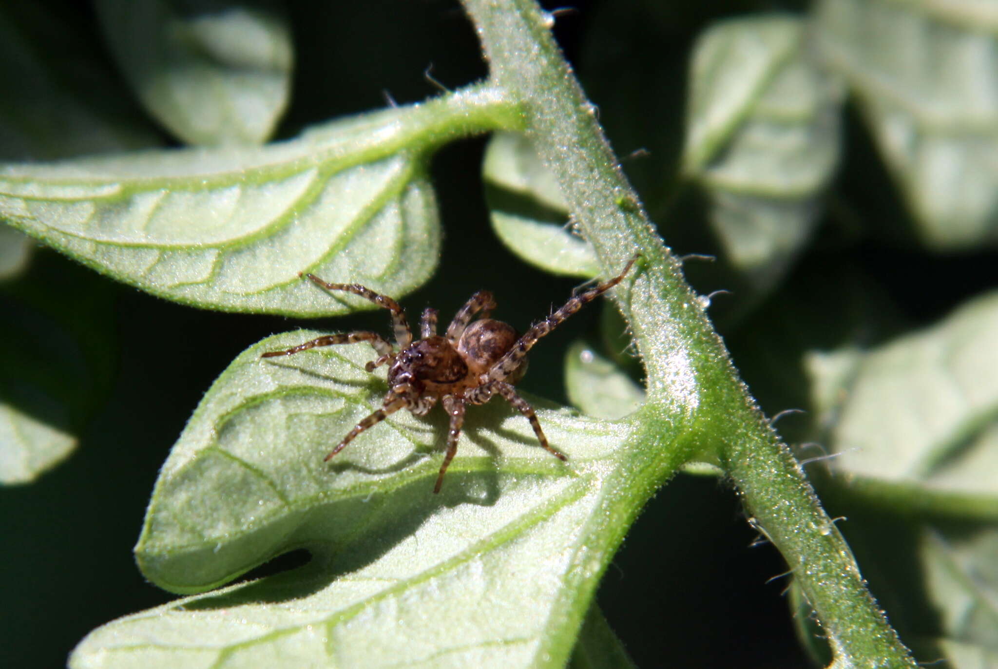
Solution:
[[(286, 350), (271, 350), (261, 357), (290, 355), (315, 346), (328, 346), (334, 343), (367, 341), (377, 351), (378, 357), (365, 365), (367, 371), (391, 363), (388, 368), (388, 393), (381, 401), (381, 408), (358, 422), (353, 429), (333, 448), (325, 459), (338, 453), (357, 434), (383, 420), (388, 414), (400, 408), (407, 408), (415, 415), (425, 415), (437, 400), (443, 404), (450, 416), (450, 432), (447, 436), (447, 454), (440, 465), (433, 492), (439, 492), (443, 475), (457, 452), (457, 438), (464, 424), (464, 407), (467, 404), (484, 404), (494, 394), (500, 394), (520, 410), (530, 421), (541, 445), (555, 457), (566, 460), (564, 454), (548, 443), (541, 429), (534, 409), (523, 397), (516, 393), (513, 384), (523, 377), (527, 370), (527, 351), (545, 334), (557, 328), (565, 319), (572, 316), (583, 305), (592, 302), (624, 280), (638, 257), (635, 256), (614, 279), (599, 284), (588, 291), (573, 296), (565, 306), (544, 321), (535, 324), (523, 336), (501, 321), (489, 318), (496, 308), (492, 294), (479, 291), (471, 296), (464, 307), (454, 316), (443, 336), (436, 334), (437, 311), (427, 309), (419, 321), (421, 338), (412, 340), (412, 331), (405, 321), (405, 312), (391, 298), (378, 295), (357, 284), (327, 284), (314, 275), (307, 275), (315, 285), (327, 291), (345, 291), (370, 300), (378, 307), (391, 312), (391, 322), (395, 331), (395, 341), (399, 350), (380, 334), (356, 332), (327, 334)], [(475, 315), (480, 318), (472, 323)]]

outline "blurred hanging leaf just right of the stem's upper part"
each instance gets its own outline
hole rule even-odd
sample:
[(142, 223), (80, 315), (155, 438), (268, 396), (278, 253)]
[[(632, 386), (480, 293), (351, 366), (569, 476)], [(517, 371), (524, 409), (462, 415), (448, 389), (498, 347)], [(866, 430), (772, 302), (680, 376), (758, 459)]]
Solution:
[(806, 243), (838, 162), (840, 87), (802, 21), (727, 21), (698, 42), (685, 169), (710, 194), (731, 263), (767, 290)]

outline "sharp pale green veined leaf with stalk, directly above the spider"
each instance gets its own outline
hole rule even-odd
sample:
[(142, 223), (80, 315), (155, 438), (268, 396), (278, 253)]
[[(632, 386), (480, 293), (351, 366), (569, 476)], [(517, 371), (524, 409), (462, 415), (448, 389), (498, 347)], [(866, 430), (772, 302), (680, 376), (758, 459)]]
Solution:
[(208, 309), (317, 317), (299, 279), (419, 286), (440, 245), (426, 156), (511, 120), (488, 89), (319, 126), (262, 148), (159, 151), (0, 169), (0, 216), (121, 281)]

